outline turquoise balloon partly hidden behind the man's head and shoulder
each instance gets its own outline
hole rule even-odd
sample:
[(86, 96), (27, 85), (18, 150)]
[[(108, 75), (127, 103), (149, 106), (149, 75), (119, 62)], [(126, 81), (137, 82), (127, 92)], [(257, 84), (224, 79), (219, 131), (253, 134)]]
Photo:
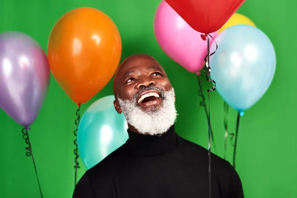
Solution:
[(84, 113), (77, 132), (79, 154), (92, 168), (128, 139), (128, 125), (123, 113), (113, 106), (114, 96), (95, 101)]

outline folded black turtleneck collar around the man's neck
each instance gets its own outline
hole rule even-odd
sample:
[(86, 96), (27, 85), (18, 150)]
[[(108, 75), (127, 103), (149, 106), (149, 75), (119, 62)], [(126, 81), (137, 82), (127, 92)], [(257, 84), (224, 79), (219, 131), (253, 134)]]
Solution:
[(139, 155), (158, 155), (169, 152), (177, 147), (178, 135), (174, 131), (174, 125), (161, 136), (143, 135), (130, 131), (126, 145), (130, 152)]

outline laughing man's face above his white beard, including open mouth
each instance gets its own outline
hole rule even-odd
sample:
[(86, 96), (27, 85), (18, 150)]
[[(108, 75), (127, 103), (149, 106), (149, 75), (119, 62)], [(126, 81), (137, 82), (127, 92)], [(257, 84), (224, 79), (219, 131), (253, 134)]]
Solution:
[(161, 107), (162, 92), (172, 86), (161, 65), (153, 58), (130, 60), (119, 71), (118, 97), (136, 100), (136, 105), (144, 111)]

